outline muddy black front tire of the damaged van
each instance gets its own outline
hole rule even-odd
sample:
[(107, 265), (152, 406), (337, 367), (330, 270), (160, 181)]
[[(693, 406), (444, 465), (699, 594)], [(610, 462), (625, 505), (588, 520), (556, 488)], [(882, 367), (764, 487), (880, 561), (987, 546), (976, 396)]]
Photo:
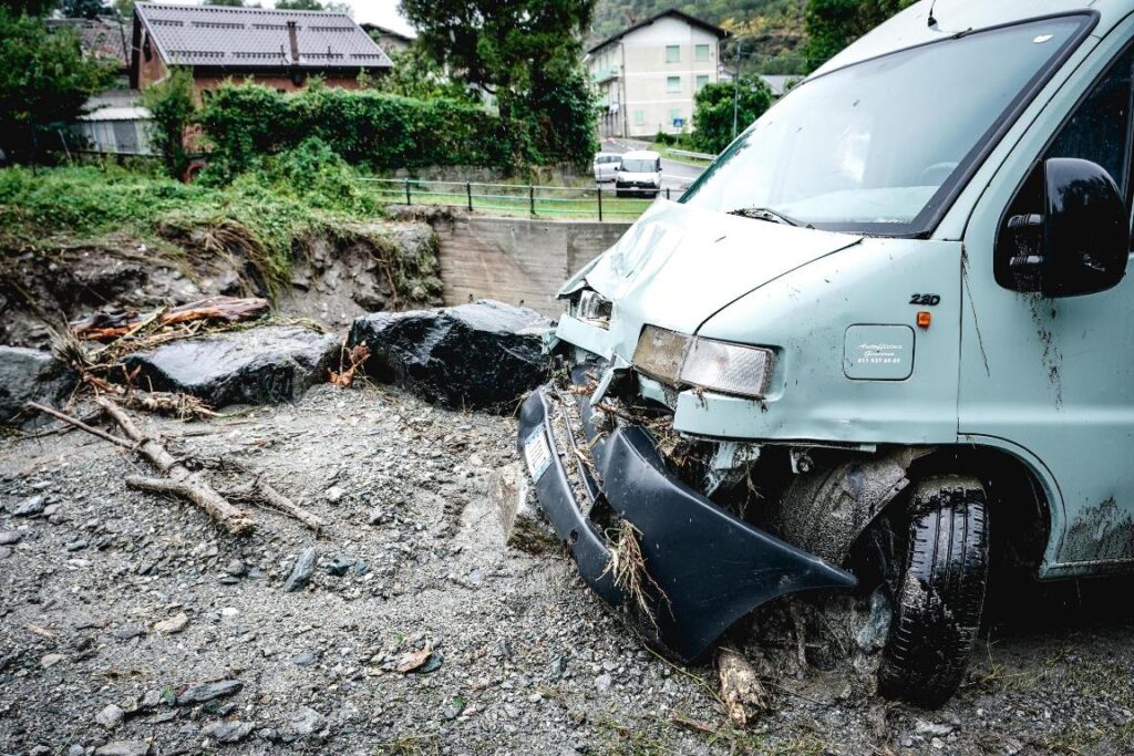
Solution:
[(960, 687), (988, 584), (984, 504), (984, 487), (973, 478), (936, 476), (914, 489), (878, 672), (883, 696), (937, 708)]

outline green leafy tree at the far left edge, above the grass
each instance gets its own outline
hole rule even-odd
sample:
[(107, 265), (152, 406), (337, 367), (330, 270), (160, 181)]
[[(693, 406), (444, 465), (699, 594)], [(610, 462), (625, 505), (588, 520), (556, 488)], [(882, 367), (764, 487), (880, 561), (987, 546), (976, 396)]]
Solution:
[(74, 29), (49, 32), (34, 16), (0, 8), (0, 147), (34, 158), (115, 80), (113, 66), (85, 57)]

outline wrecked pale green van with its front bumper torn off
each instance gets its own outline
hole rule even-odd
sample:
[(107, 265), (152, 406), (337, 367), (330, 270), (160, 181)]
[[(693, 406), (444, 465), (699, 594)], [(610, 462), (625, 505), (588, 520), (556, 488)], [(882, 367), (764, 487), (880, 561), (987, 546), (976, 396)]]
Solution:
[(890, 618), (880, 689), (934, 706), (999, 564), (1134, 568), (1132, 11), (920, 2), (562, 288), (519, 449), (659, 644), (858, 591)]

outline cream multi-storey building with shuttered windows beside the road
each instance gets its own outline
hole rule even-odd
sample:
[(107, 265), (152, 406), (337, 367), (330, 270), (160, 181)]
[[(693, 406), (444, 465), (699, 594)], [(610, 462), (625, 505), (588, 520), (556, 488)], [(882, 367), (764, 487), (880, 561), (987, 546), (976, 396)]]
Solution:
[(599, 93), (602, 136), (652, 137), (693, 128), (693, 95), (718, 79), (728, 33), (665, 10), (591, 48), (583, 59)]

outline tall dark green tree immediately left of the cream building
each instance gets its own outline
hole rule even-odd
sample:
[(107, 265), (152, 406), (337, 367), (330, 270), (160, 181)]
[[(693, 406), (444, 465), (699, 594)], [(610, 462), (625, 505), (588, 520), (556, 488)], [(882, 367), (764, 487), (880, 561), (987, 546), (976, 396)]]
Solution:
[[(556, 100), (557, 92), (566, 92), (550, 73), (581, 76), (581, 40), (593, 8), (594, 0), (401, 0), (422, 51), (457, 80), (494, 95), (514, 136), (576, 100)], [(572, 117), (593, 128), (593, 108), (572, 109)], [(514, 126), (516, 118), (525, 122)], [(558, 145), (551, 152), (573, 162), (590, 160), (590, 154), (564, 154)]]

